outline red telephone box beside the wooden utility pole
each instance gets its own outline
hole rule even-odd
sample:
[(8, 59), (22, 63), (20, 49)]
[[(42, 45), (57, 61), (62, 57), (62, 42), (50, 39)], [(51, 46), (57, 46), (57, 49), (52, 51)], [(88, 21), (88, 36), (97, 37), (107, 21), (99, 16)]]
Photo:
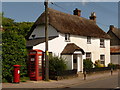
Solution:
[(31, 50), (29, 52), (29, 77), (30, 80), (44, 79), (44, 58), (42, 50)]

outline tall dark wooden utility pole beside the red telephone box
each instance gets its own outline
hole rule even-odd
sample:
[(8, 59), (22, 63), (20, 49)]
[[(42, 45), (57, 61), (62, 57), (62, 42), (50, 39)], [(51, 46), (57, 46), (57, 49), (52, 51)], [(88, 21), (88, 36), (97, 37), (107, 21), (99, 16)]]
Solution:
[(48, 0), (45, 0), (45, 81), (49, 80), (49, 60), (48, 60)]

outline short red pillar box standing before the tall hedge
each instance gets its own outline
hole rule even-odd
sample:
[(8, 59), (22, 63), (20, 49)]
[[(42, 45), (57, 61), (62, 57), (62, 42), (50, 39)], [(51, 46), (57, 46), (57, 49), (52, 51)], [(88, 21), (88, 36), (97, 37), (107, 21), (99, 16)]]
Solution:
[(14, 83), (19, 83), (20, 82), (20, 65), (13, 65), (13, 66), (14, 66), (13, 82)]

